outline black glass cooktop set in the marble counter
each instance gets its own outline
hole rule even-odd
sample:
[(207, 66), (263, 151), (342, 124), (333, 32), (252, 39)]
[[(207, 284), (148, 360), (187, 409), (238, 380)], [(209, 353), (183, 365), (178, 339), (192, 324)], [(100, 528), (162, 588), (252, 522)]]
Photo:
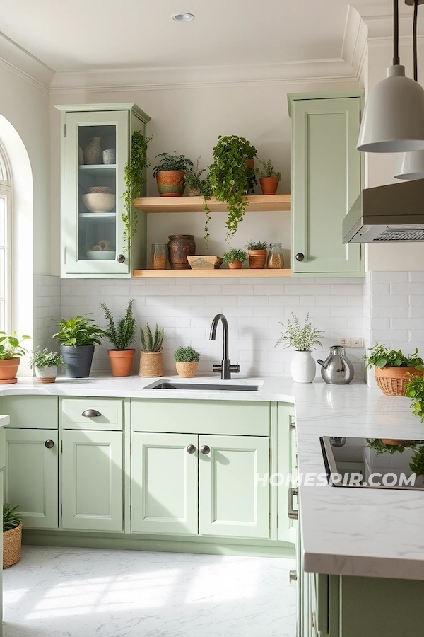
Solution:
[(424, 490), (424, 440), (320, 439), (332, 486)]

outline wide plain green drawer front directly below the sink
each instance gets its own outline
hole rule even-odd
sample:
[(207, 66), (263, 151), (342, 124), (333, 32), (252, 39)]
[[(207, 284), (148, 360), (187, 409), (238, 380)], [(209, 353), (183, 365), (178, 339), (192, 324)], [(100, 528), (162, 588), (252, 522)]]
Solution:
[(268, 436), (269, 403), (131, 399), (131, 430)]

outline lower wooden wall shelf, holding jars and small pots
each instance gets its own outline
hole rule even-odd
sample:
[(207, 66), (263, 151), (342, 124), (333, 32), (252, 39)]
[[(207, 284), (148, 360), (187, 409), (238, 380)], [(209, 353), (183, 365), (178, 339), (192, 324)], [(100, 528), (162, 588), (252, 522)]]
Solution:
[(290, 277), (291, 270), (249, 270), (242, 268), (241, 270), (134, 270), (133, 278), (136, 279), (153, 279), (153, 278), (172, 278), (172, 279), (196, 279), (196, 278), (218, 278), (224, 279), (229, 277), (238, 278), (265, 278), (265, 277)]

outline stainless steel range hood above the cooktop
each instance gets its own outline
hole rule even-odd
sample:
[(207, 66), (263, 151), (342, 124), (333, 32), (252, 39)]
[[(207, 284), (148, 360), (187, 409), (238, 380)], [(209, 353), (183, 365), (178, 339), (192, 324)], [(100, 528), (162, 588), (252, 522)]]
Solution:
[(343, 219), (343, 243), (424, 241), (424, 179), (365, 188)]

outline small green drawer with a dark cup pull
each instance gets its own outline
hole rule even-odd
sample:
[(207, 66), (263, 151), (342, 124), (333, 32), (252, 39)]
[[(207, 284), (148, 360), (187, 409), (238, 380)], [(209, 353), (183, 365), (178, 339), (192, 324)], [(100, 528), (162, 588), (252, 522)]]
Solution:
[(123, 411), (124, 401), (119, 399), (62, 398), (61, 425), (63, 429), (122, 431)]

